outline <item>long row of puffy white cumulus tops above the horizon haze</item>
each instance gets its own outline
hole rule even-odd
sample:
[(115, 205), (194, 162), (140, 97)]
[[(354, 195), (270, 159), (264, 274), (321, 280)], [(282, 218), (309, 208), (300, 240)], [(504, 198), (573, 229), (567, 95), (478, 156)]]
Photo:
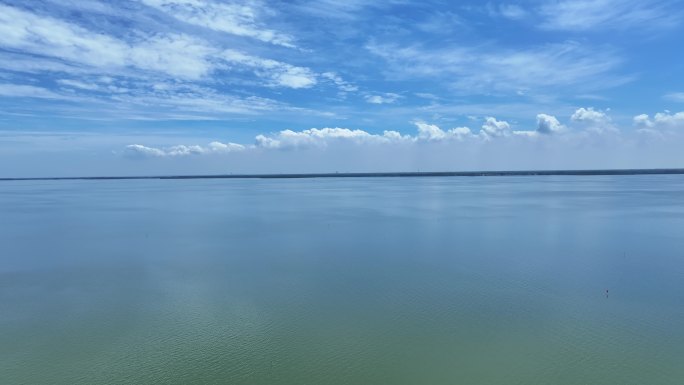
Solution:
[[(421, 145), (426, 143), (469, 142), (484, 144), (493, 140), (513, 140), (527, 138), (528, 141), (596, 141), (598, 139), (636, 139), (645, 142), (653, 139), (679, 140), (684, 134), (684, 112), (657, 113), (653, 118), (641, 114), (633, 118), (636, 130), (629, 136), (622, 134), (604, 111), (593, 108), (580, 108), (570, 117), (572, 130), (560, 123), (552, 115), (538, 114), (534, 130), (513, 130), (506, 121), (487, 117), (479, 131), (470, 127), (442, 129), (437, 125), (422, 121), (414, 122), (417, 132), (413, 135), (386, 130), (372, 134), (360, 129), (349, 128), (311, 128), (302, 131), (282, 130), (275, 133), (259, 134), (253, 144), (222, 143), (213, 141), (207, 146), (174, 145), (165, 148), (130, 144), (125, 147), (124, 155), (130, 157), (176, 157), (189, 155), (219, 154), (254, 150), (296, 150), (301, 148), (326, 148), (336, 145)], [(553, 138), (552, 138), (553, 137)]]

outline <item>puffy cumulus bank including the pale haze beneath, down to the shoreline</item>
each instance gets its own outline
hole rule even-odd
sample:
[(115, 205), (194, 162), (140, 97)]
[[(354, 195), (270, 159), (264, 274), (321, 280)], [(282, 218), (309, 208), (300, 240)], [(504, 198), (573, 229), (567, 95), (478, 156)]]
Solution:
[[(233, 172), (407, 171), (416, 167), (421, 170), (657, 168), (684, 165), (684, 157), (681, 156), (684, 131), (676, 129), (684, 128), (684, 112), (663, 112), (653, 117), (639, 115), (634, 121), (640, 129), (616, 129), (614, 134), (606, 135), (593, 128), (598, 123), (614, 124), (606, 111), (580, 108), (572, 114), (567, 126), (555, 116), (538, 114), (536, 127), (532, 125), (529, 130), (517, 130), (517, 124), (494, 117), (485, 118), (478, 131), (468, 127), (446, 129), (420, 121), (414, 123), (416, 131), (412, 134), (398, 131), (372, 133), (340, 127), (282, 130), (258, 135), (250, 145), (216, 142), (207, 146), (150, 147), (134, 144), (127, 146), (123, 155), (130, 158), (188, 159), (183, 164), (211, 159), (199, 156), (207, 154), (248, 156), (250, 162), (244, 165), (231, 163)], [(263, 161), (263, 167), (250, 166), (259, 160)], [(635, 163), (635, 160), (639, 161)]]

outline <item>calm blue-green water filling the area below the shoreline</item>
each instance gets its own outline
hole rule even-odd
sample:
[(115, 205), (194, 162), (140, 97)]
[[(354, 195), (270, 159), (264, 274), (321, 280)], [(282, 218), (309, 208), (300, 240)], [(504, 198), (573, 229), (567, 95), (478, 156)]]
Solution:
[(683, 383), (682, 176), (0, 183), (0, 384)]

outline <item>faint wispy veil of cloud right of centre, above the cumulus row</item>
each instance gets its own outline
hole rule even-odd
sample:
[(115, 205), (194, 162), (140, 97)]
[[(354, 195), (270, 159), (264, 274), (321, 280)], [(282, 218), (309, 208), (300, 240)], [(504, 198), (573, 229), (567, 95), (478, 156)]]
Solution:
[(609, 49), (568, 41), (514, 50), (496, 46), (428, 48), (371, 42), (367, 49), (387, 61), (389, 75), (400, 78), (454, 78), (464, 94), (544, 88), (603, 89), (631, 80), (615, 75), (622, 59)]

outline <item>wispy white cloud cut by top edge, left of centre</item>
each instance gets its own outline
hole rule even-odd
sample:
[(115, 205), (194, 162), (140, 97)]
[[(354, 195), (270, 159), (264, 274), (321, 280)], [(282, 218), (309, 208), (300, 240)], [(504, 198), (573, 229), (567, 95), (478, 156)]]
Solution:
[(292, 36), (264, 26), (260, 16), (268, 13), (269, 10), (256, 1), (225, 3), (205, 0), (142, 0), (142, 2), (185, 23), (284, 47), (295, 47)]

